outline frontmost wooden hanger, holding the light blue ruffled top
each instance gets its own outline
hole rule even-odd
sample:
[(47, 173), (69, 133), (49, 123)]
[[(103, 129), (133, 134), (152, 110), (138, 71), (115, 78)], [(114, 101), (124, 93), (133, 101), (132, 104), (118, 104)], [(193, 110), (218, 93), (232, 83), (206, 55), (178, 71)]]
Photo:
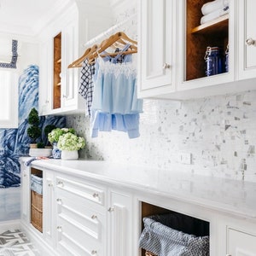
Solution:
[[(102, 44), (100, 45), (99, 49), (96, 50), (96, 52), (94, 52), (92, 54), (89, 54), (87, 56), (88, 59), (89, 59), (89, 63), (92, 63), (96, 59), (97, 55), (101, 54), (102, 51), (104, 51), (105, 49), (108, 49), (108, 47), (110, 47), (114, 43), (119, 42), (119, 43), (124, 44), (125, 43), (124, 40), (127, 41), (128, 43), (131, 43), (131, 45), (133, 45), (133, 46), (131, 47), (131, 49), (128, 49), (128, 50), (122, 52), (122, 55), (137, 53), (137, 46), (134, 45), (134, 44), (137, 44), (137, 41), (132, 40), (131, 38), (129, 38), (125, 34), (125, 32), (117, 32), (114, 35), (112, 35), (110, 38), (104, 40), (102, 42)], [(107, 55), (114, 56), (114, 55), (119, 55), (119, 54), (120, 54), (119, 52), (115, 52), (115, 53), (106, 53), (106, 54), (101, 55), (101, 56), (102, 57), (107, 56)]]

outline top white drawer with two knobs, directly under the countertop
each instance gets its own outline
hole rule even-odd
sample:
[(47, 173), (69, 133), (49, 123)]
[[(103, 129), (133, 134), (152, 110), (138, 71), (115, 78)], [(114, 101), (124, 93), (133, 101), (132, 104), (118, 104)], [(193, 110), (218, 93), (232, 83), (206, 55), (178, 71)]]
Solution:
[(106, 192), (100, 187), (88, 183), (81, 183), (76, 180), (70, 180), (66, 177), (56, 177), (56, 186), (58, 189), (68, 191), (73, 195), (79, 195), (80, 198), (105, 206), (104, 200)]

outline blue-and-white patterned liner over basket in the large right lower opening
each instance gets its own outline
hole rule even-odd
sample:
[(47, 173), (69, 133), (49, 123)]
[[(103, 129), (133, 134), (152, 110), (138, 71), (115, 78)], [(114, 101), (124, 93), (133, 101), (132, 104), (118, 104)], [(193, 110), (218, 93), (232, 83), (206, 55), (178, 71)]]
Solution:
[(143, 218), (144, 230), (139, 246), (158, 256), (209, 256), (209, 236), (195, 236)]

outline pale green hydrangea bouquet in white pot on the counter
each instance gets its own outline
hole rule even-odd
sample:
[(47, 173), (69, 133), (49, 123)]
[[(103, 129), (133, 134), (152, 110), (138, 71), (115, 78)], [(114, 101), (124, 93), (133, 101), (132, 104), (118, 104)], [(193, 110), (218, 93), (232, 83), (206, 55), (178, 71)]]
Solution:
[(59, 137), (58, 148), (61, 149), (62, 160), (77, 160), (79, 158), (78, 150), (84, 146), (84, 137), (79, 137), (71, 132)]

